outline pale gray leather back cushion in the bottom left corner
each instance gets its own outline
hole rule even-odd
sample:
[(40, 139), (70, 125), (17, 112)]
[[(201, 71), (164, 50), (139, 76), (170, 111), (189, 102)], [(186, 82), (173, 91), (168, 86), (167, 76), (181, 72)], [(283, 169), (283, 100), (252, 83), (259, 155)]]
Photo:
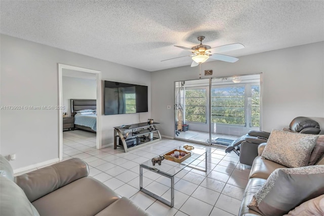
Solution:
[(0, 215), (39, 215), (23, 190), (2, 175), (0, 175), (0, 192)]

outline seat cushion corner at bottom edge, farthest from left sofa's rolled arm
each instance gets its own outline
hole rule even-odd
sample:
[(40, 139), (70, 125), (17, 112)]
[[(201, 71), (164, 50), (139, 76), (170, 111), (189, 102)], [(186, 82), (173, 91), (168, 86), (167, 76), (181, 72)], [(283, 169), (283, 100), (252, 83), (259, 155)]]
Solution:
[(96, 216), (115, 215), (148, 216), (149, 214), (126, 197), (121, 197), (120, 199), (100, 211), (98, 214), (96, 214)]

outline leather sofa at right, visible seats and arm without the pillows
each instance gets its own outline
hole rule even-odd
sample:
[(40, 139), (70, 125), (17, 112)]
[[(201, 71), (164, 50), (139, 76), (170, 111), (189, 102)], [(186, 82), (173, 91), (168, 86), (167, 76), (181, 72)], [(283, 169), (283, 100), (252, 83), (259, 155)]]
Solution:
[[(258, 146), (258, 156), (254, 159), (250, 179), (245, 189), (244, 196), (242, 198), (241, 206), (239, 209), (239, 216), (253, 216), (262, 215), (257, 211), (254, 211), (248, 207), (253, 195), (264, 185), (269, 175), (277, 168), (287, 168), (273, 161), (262, 159), (261, 155), (266, 146), (266, 143), (262, 143)], [(320, 157), (315, 165), (324, 165), (324, 154)]]

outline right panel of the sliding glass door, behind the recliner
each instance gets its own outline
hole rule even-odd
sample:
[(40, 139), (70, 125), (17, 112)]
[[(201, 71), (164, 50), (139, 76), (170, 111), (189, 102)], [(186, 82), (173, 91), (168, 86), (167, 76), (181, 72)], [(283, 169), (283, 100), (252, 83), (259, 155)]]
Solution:
[(212, 78), (212, 143), (226, 145), (218, 140), (232, 140), (249, 130), (260, 130), (260, 74)]

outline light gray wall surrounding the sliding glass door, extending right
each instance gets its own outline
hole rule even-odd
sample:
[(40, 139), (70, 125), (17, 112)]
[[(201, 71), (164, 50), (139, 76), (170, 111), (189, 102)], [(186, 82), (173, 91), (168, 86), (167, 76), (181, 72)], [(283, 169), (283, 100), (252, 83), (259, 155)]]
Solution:
[[(226, 53), (225, 53), (226, 54)], [(235, 63), (201, 64), (212, 77), (263, 73), (263, 130), (282, 129), (297, 116), (324, 117), (324, 42), (242, 56)], [(201, 76), (201, 79), (211, 76)], [(152, 118), (161, 134), (174, 136), (174, 81), (199, 78), (199, 67), (183, 66), (151, 75)], [(324, 125), (321, 125), (324, 130)]]

